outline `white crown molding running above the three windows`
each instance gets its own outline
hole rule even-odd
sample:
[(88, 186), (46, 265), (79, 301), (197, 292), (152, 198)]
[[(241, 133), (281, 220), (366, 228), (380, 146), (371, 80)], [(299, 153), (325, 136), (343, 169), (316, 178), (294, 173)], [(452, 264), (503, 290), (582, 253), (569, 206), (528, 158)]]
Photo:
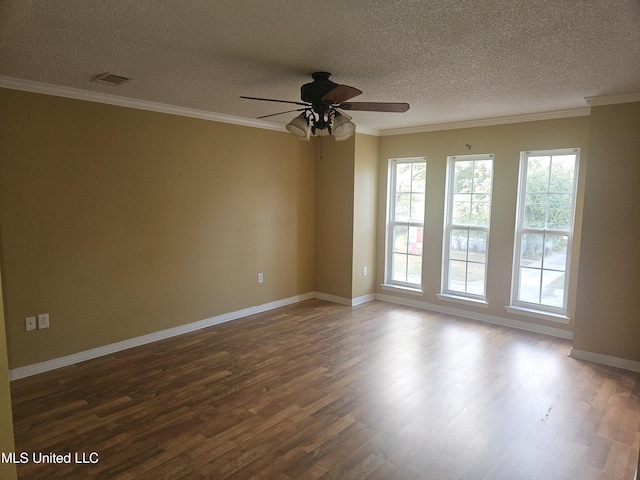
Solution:
[(553, 112), (527, 113), (524, 115), (511, 115), (506, 117), (481, 118), (478, 120), (465, 120), (462, 122), (435, 123), (417, 127), (393, 128), (382, 130), (380, 135), (406, 135), (410, 133), (438, 132), (442, 130), (457, 130), (461, 128), (490, 127), (493, 125), (505, 125), (509, 123), (537, 122), (540, 120), (556, 120), (559, 118), (584, 117), (591, 114), (590, 107), (574, 108), (571, 110), (556, 110)]

